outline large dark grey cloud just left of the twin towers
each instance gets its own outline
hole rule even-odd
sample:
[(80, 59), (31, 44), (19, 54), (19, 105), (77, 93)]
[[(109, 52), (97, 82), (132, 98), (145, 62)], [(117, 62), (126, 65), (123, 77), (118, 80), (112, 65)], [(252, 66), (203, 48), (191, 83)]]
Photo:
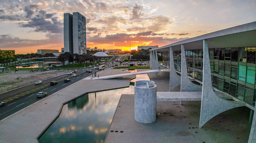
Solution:
[[(48, 17), (47, 17), (48, 18)], [(20, 23), (21, 27), (31, 27), (36, 28), (36, 32), (51, 32), (51, 33), (62, 33), (63, 23), (57, 19), (57, 17), (52, 17), (51, 20), (45, 20), (45, 16), (36, 15), (31, 21), (27, 23)]]

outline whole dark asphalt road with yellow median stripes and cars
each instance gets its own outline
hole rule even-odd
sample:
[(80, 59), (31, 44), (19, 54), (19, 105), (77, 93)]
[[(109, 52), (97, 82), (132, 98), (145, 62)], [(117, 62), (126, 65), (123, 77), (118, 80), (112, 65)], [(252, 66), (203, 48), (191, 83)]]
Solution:
[[(118, 56), (118, 58), (122, 58), (122, 56)], [(119, 62), (115, 62), (115, 59), (112, 60), (114, 63), (112, 64), (110, 62), (110, 65), (118, 64)], [(105, 63), (106, 65), (107, 63)], [(97, 66), (98, 67), (98, 66)], [(107, 68), (107, 66), (105, 67)], [(41, 99), (45, 98), (37, 98), (36, 95), (38, 92), (47, 92), (47, 96), (75, 83), (79, 80), (87, 77), (92, 76), (92, 73), (87, 73), (86, 69), (94, 70), (92, 68), (85, 68), (85, 69), (77, 69), (77, 72), (74, 73), (77, 76), (71, 77), (71, 75), (59, 75), (56, 77), (52, 77), (50, 79), (46, 79), (42, 81), (42, 84), (35, 85), (35, 84), (29, 84), (26, 86), (23, 86), (21, 88), (17, 88), (12, 91), (8, 91), (5, 93), (0, 94), (0, 101), (4, 101), (5, 105), (0, 107), (0, 120), (8, 117), (9, 115), (12, 115), (15, 112), (18, 112), (19, 110), (28, 107), (29, 105), (40, 101)], [(95, 69), (95, 72), (97, 73), (98, 69)], [(70, 82), (64, 83), (64, 79), (69, 78)], [(40, 79), (39, 79), (40, 80)], [(51, 81), (58, 81), (58, 84), (56, 85), (50, 85)]]

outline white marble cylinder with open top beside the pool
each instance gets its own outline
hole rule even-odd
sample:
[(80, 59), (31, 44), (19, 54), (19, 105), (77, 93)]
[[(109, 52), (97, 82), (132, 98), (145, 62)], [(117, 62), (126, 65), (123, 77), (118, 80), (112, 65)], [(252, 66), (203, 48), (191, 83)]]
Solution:
[(140, 80), (134, 83), (134, 115), (139, 123), (156, 121), (156, 84), (153, 81)]

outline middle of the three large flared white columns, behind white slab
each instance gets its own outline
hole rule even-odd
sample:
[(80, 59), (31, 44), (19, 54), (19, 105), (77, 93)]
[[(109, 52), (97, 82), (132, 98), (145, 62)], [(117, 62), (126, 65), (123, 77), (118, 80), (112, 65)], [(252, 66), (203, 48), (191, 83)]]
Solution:
[(181, 44), (181, 86), (180, 91), (202, 91), (202, 86), (192, 83), (187, 75), (186, 54)]

